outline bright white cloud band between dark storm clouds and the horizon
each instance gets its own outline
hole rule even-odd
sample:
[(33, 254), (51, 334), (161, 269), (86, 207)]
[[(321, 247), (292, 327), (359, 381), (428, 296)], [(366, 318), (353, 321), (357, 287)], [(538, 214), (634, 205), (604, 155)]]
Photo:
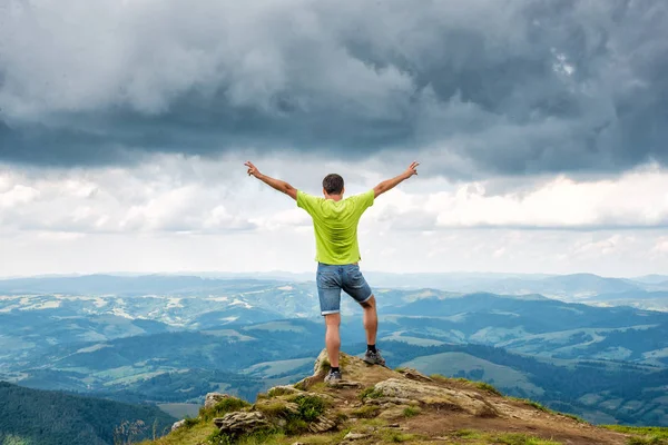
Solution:
[[(310, 270), (310, 217), (245, 175), (245, 158), (155, 156), (128, 168), (0, 170), (3, 275)], [(323, 165), (288, 155), (262, 171), (308, 192), (343, 172), (350, 194), (402, 171), (376, 160)], [(527, 178), (504, 187), (418, 176), (380, 197), (360, 225), (366, 269), (642, 275), (668, 269), (668, 174)], [(494, 189), (492, 195), (489, 189)], [(7, 255), (7, 253), (10, 253)], [(649, 253), (649, 255), (648, 255)]]

